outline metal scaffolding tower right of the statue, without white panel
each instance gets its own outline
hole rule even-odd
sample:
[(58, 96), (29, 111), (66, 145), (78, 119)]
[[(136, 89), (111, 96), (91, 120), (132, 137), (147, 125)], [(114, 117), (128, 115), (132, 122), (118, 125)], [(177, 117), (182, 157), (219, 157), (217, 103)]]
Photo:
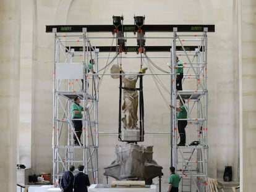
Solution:
[[(185, 101), (183, 105), (187, 106), (187, 119), (182, 120), (187, 120), (189, 127), (187, 135), (190, 139), (194, 136), (194, 140), (190, 140), (189, 143), (187, 139), (186, 146), (177, 145), (179, 139), (177, 123), (181, 119), (177, 119), (177, 107), (174, 107), (171, 113), (172, 165), (176, 167), (181, 177), (181, 191), (208, 191), (207, 30), (208, 28), (203, 28), (201, 35), (186, 35), (178, 33), (177, 28), (173, 28), (171, 105), (177, 106), (178, 101)], [(187, 51), (185, 49), (187, 44), (197, 44), (198, 48)], [(181, 46), (183, 50), (177, 51), (176, 46)], [(177, 66), (176, 56), (182, 58), (182, 66)], [(177, 67), (183, 68), (183, 90), (176, 90)], [(189, 90), (186, 90), (187, 87)]]

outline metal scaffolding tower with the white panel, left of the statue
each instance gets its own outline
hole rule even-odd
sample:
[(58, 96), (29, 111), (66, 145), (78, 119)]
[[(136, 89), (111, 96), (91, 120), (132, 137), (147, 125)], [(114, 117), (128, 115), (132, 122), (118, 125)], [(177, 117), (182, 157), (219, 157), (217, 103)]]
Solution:
[[(87, 64), (95, 60), (98, 69), (98, 49), (90, 45), (86, 28), (83, 33), (61, 35), (55, 33), (53, 74), (53, 185), (58, 186), (62, 173), (69, 165), (84, 165), (90, 180), (98, 183), (98, 83), (95, 73), (89, 73)], [(81, 46), (75, 50), (72, 46)], [(82, 83), (82, 81), (85, 83)], [(79, 96), (83, 106), (82, 136), (79, 146), (70, 106)]]

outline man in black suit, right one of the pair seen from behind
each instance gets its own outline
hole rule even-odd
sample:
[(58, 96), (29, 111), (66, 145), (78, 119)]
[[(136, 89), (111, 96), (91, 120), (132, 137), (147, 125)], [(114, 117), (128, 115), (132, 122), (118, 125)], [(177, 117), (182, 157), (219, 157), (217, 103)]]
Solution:
[(75, 175), (74, 192), (87, 192), (87, 186), (90, 186), (88, 175), (83, 173), (83, 165), (79, 165), (79, 173)]

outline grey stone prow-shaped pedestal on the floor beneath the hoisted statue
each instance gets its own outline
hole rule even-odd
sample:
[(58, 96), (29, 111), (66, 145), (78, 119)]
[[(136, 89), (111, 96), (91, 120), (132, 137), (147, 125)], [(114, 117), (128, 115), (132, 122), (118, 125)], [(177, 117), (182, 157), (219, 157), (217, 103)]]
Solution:
[(152, 178), (163, 175), (163, 167), (153, 160), (153, 146), (117, 145), (116, 156), (116, 160), (104, 168), (104, 175), (117, 180), (145, 180), (147, 185), (151, 184)]

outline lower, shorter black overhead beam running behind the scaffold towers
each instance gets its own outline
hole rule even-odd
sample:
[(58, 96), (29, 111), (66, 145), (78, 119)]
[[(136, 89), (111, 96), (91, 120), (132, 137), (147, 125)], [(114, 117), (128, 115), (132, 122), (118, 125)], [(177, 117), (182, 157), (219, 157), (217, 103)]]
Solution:
[[(100, 49), (100, 52), (116, 52), (118, 47), (116, 46), (96, 46), (97, 49)], [(145, 46), (146, 52), (170, 52), (171, 46)], [(66, 47), (67, 50), (74, 49), (74, 51), (83, 51), (82, 46), (72, 46)], [(198, 46), (184, 46), (186, 51), (195, 51), (198, 49)], [(182, 46), (176, 46), (176, 51), (184, 51)], [(203, 47), (200, 47), (200, 51), (203, 50)], [(85, 48), (86, 51), (86, 48)], [(92, 51), (92, 50), (91, 50)], [(124, 48), (125, 52), (137, 52), (138, 46), (126, 46)]]

